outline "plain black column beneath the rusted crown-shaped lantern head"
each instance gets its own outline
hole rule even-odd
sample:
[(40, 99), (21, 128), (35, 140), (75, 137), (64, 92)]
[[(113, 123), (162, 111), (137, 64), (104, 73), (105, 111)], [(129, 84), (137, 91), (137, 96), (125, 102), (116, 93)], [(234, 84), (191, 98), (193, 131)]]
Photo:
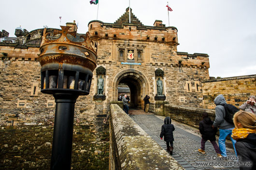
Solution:
[(56, 102), (51, 170), (71, 170), (73, 121), (77, 93), (55, 93)]

